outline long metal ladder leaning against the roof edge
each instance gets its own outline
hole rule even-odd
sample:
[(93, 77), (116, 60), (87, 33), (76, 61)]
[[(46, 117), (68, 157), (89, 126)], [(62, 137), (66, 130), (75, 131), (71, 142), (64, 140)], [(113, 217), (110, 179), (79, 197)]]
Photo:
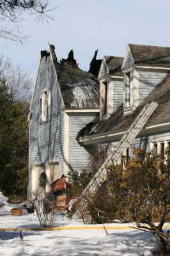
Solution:
[(143, 126), (146, 124), (146, 122), (157, 107), (158, 103), (153, 101), (144, 105), (143, 109), (141, 110), (139, 115), (137, 115), (134, 122), (132, 122), (127, 132), (125, 132), (114, 150), (112, 150), (111, 154), (109, 154), (107, 159), (105, 159), (104, 163), (98, 169), (97, 173), (95, 173), (84, 191), (82, 191), (81, 196), (79, 196), (77, 200), (77, 207), (75, 213), (73, 214), (73, 217), (79, 214), (79, 207), (81, 205), (86, 205), (86, 198), (88, 198), (88, 195), (93, 195), (100, 187), (100, 185), (104, 182), (104, 180), (107, 179), (107, 164), (116, 163), (118, 159), (120, 159), (121, 154), (123, 154), (125, 150), (127, 150), (129, 145), (132, 143), (137, 134), (139, 134), (141, 129), (143, 129)]

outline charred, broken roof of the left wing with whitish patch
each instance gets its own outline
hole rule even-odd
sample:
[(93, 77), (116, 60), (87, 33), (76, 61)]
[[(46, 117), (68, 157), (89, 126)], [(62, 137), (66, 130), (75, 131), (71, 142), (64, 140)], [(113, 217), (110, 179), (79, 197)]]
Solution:
[(100, 90), (96, 77), (68, 59), (59, 63), (53, 45), (50, 45), (50, 52), (65, 108), (98, 109)]

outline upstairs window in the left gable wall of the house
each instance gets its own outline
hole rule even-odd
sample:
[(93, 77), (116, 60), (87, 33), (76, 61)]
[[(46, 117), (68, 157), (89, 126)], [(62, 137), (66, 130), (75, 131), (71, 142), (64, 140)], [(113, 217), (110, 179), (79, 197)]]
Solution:
[(50, 93), (43, 92), (40, 98), (40, 121), (45, 122), (50, 118)]

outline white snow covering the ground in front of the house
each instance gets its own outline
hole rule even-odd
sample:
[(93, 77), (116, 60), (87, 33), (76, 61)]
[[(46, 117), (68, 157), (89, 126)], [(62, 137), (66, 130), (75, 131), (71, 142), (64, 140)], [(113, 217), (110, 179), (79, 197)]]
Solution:
[[(85, 227), (82, 221), (69, 220), (66, 215), (58, 215), (56, 227)], [(103, 225), (93, 225), (103, 226)], [(108, 226), (128, 226), (128, 224), (105, 224)], [(0, 215), (0, 228), (40, 227), (34, 214), (11, 216), (10, 213)], [(151, 251), (157, 246), (154, 238), (134, 229), (104, 229), (88, 230), (51, 230), (23, 231), (24, 255), (31, 256), (88, 256), (88, 255), (152, 255)], [(143, 254), (144, 253), (144, 254)], [(19, 231), (0, 231), (0, 255), (22, 256), (22, 242)]]

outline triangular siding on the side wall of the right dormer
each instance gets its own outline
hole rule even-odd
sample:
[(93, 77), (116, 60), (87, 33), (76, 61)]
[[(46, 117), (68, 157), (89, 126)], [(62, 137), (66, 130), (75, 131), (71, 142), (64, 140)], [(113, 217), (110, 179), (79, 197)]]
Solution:
[(160, 83), (166, 73), (162, 72), (139, 72), (139, 104)]

